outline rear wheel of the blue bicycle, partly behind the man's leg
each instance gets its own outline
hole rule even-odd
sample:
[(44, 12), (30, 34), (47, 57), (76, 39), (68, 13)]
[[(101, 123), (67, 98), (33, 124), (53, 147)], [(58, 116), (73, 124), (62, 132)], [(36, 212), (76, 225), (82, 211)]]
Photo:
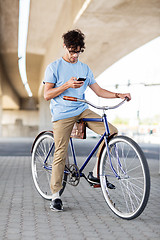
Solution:
[[(45, 164), (44, 161), (53, 143), (54, 143), (53, 134), (51, 132), (45, 132), (37, 138), (32, 150), (31, 169), (34, 185), (38, 193), (46, 200), (52, 199), (50, 179), (52, 173), (51, 164), (53, 162), (54, 147), (51, 150)], [(62, 195), (65, 189), (66, 181), (67, 174), (64, 172), (62, 183), (63, 188), (60, 190), (60, 195)]]

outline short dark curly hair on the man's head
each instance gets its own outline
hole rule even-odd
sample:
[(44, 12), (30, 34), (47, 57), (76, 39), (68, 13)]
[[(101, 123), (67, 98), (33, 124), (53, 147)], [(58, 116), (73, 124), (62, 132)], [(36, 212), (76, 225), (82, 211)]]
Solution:
[(68, 31), (62, 35), (64, 44), (67, 48), (77, 49), (80, 46), (80, 49), (84, 51), (85, 49), (85, 35), (79, 29)]

